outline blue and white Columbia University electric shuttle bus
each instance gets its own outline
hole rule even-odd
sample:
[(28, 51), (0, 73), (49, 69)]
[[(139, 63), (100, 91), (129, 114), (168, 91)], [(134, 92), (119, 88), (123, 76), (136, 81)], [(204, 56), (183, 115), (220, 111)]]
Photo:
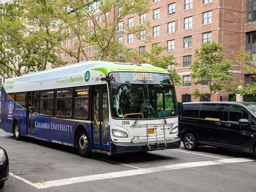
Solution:
[(1, 92), (1, 128), (16, 140), (72, 146), (84, 157), (180, 147), (182, 103), (163, 68), (81, 62), (9, 78)]

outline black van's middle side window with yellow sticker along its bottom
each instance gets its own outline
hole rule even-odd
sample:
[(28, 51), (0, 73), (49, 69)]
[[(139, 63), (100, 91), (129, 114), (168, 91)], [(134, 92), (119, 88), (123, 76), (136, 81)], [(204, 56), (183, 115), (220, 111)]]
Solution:
[(224, 104), (202, 104), (199, 118), (222, 121), (224, 109)]

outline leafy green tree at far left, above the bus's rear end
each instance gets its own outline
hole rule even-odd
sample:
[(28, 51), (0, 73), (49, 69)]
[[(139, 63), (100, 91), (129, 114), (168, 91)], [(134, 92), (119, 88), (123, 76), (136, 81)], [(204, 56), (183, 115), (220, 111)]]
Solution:
[[(44, 70), (48, 62), (60, 66), (63, 62), (55, 55), (56, 47), (30, 33), (25, 19), (26, 5), (19, 1), (0, 5), (0, 75), (21, 76), (33, 71)], [(46, 57), (47, 54), (47, 57)]]

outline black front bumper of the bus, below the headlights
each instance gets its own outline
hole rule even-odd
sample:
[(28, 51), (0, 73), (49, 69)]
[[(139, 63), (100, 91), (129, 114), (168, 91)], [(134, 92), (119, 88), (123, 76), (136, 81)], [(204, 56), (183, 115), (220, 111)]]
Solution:
[(141, 143), (116, 143), (111, 142), (111, 155), (120, 155), (124, 153), (135, 153), (135, 152), (143, 152), (143, 151), (155, 151), (155, 150), (164, 150), (164, 149), (174, 149), (180, 148), (180, 138), (177, 137), (174, 140), (166, 141), (166, 147), (164, 144), (150, 144), (150, 148), (148, 148), (147, 142)]

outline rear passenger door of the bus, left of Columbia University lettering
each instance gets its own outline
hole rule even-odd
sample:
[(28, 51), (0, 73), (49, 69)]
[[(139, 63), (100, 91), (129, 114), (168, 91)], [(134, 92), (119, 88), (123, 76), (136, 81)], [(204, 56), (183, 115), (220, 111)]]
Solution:
[(35, 136), (35, 110), (37, 111), (38, 107), (39, 107), (39, 92), (38, 91), (28, 92), (27, 93), (27, 109), (28, 109), (27, 134), (33, 137)]

